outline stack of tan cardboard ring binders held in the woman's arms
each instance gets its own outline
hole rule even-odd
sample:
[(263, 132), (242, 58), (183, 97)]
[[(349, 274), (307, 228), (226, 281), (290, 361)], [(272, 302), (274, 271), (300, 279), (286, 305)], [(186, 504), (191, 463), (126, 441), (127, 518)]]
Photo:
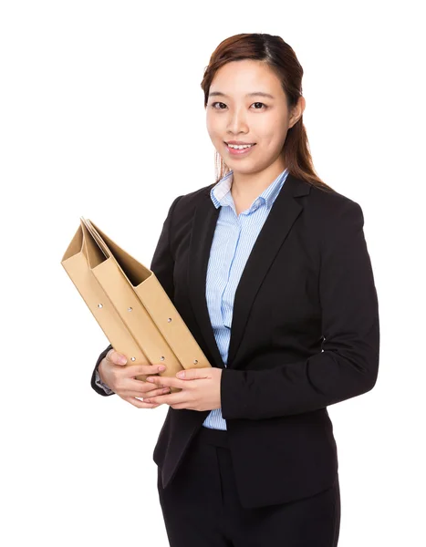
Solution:
[(80, 218), (61, 264), (126, 366), (163, 364), (167, 377), (211, 366), (155, 274), (93, 222)]

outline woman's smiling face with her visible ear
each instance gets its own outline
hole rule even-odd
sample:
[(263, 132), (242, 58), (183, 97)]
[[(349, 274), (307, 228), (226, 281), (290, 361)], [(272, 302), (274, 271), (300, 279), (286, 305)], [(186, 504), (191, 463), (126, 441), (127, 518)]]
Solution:
[[(281, 150), (287, 130), (303, 113), (302, 99), (289, 112), (278, 77), (261, 61), (232, 61), (219, 68), (206, 106), (207, 130), (234, 175), (271, 171), (271, 167), (278, 174), (286, 168)], [(254, 146), (232, 150), (226, 143), (233, 140)]]

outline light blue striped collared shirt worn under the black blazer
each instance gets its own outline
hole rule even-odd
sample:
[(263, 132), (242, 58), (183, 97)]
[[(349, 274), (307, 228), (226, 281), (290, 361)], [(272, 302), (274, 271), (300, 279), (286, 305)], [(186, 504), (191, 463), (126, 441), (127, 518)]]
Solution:
[[(276, 196), (286, 181), (288, 170), (281, 172), (274, 182), (237, 215), (231, 194), (232, 174), (227, 173), (210, 192), (214, 207), (221, 207), (213, 234), (205, 297), (213, 326), (216, 344), (226, 366), (234, 295), (257, 236), (265, 223)], [(221, 408), (214, 408), (203, 422), (205, 428), (226, 429)]]

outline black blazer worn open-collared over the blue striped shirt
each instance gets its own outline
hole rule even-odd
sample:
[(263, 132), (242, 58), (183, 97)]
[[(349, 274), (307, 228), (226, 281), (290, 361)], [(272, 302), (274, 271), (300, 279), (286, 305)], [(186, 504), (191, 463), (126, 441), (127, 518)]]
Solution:
[[(223, 368), (222, 415), (242, 505), (311, 496), (338, 472), (327, 406), (366, 393), (378, 376), (379, 306), (363, 213), (336, 191), (287, 176), (235, 293), (224, 367), (205, 300), (220, 211), (212, 188), (172, 202), (151, 270), (212, 366)], [(95, 370), (91, 386), (106, 395), (94, 378)], [(208, 414), (169, 407), (153, 452), (163, 488)]]

